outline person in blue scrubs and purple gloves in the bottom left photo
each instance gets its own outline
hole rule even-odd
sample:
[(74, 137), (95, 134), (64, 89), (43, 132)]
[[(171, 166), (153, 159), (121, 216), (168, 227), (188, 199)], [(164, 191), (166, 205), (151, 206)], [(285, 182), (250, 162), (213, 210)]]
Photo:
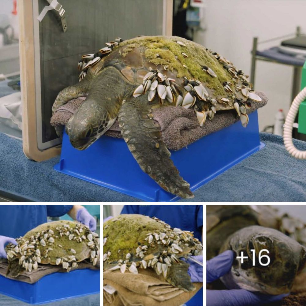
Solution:
[(73, 220), (96, 230), (96, 220), (81, 205), (0, 205), (0, 258), (7, 258), (5, 246), (17, 244), (14, 238), (47, 222), (48, 217), (68, 214)]

